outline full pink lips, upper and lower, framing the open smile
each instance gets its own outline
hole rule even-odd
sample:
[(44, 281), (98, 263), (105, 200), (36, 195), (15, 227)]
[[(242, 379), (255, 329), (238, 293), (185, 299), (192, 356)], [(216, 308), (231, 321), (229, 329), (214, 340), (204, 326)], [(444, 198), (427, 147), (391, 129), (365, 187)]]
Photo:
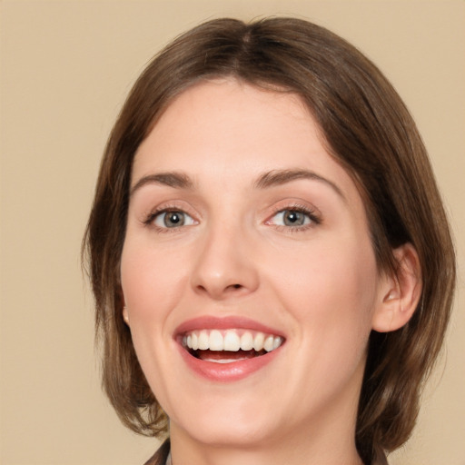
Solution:
[(242, 317), (224, 317), (217, 318), (205, 316), (183, 322), (175, 331), (175, 339), (178, 342), (178, 348), (183, 357), (183, 361), (188, 368), (200, 375), (204, 379), (216, 382), (233, 382), (240, 381), (252, 373), (259, 371), (265, 365), (268, 365), (281, 352), (282, 346), (274, 351), (264, 355), (231, 363), (215, 363), (213, 361), (203, 361), (193, 357), (183, 347), (181, 340), (183, 333), (194, 330), (227, 330), (227, 329), (247, 329), (252, 331), (261, 331), (268, 334), (282, 336), (281, 331), (276, 331), (259, 322), (254, 322), (248, 318)]

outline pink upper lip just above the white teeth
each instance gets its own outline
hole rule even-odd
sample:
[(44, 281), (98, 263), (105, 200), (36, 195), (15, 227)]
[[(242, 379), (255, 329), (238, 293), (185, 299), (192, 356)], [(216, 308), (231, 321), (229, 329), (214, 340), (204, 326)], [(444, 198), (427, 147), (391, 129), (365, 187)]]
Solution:
[(252, 330), (261, 331), (275, 336), (284, 338), (282, 331), (267, 326), (261, 322), (256, 322), (250, 318), (242, 316), (224, 316), (217, 317), (213, 315), (204, 315), (192, 320), (181, 323), (174, 331), (174, 336), (180, 336), (188, 331), (195, 330)]

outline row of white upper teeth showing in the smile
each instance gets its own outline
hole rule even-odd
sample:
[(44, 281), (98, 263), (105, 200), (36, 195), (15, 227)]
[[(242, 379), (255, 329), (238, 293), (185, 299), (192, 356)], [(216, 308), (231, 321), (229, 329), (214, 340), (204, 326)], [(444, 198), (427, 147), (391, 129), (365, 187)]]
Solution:
[(281, 336), (264, 332), (238, 330), (190, 331), (183, 336), (183, 345), (196, 351), (273, 351), (282, 344)]

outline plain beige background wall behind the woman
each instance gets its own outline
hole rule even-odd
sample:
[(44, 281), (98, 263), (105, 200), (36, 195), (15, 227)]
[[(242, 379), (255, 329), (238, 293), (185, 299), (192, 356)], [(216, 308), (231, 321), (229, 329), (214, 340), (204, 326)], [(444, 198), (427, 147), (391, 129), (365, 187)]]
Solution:
[[(99, 388), (79, 248), (100, 154), (143, 65), (204, 19), (302, 15), (379, 64), (430, 149), (465, 264), (465, 2), (1, 3), (1, 449), (8, 465), (142, 464)], [(464, 284), (420, 421), (394, 465), (465, 464)], [(445, 366), (445, 368), (444, 368)]]

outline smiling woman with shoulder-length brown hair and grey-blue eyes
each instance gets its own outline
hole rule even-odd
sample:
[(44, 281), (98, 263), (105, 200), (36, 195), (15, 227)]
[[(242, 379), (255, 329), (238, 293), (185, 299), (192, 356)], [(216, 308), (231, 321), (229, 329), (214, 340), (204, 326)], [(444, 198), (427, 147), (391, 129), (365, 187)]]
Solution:
[(132, 430), (169, 429), (147, 463), (375, 464), (411, 434), (450, 231), (411, 115), (340, 37), (223, 19), (168, 45), (85, 246), (104, 389)]

